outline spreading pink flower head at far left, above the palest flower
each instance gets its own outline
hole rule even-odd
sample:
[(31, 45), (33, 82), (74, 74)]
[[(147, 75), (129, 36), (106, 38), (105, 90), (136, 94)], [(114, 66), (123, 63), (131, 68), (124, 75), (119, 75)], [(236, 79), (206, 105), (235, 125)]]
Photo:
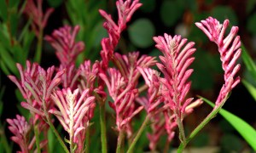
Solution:
[(21, 106), (32, 111), (39, 116), (44, 116), (43, 102), (47, 108), (50, 107), (50, 94), (61, 83), (61, 75), (64, 71), (59, 71), (54, 76), (55, 66), (51, 66), (45, 71), (38, 64), (31, 65), (26, 61), (26, 70), (17, 64), (20, 71), (20, 80), (15, 76), (9, 76), (12, 82), (20, 89), (26, 102), (21, 102)]

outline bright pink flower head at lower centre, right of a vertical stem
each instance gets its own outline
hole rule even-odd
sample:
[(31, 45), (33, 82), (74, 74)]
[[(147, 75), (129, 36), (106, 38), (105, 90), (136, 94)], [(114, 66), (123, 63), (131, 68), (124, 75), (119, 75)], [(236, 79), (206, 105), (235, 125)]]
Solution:
[(109, 102), (109, 105), (116, 113), (118, 131), (125, 129), (127, 133), (131, 133), (129, 129), (131, 129), (130, 122), (132, 117), (143, 110), (143, 106), (137, 109), (135, 107), (134, 101), (137, 97), (137, 89), (134, 88), (134, 83), (128, 83), (127, 80), (121, 76), (121, 73), (114, 68), (108, 69), (108, 76), (104, 73), (100, 73), (99, 77), (106, 83), (108, 93), (113, 99), (113, 103)]

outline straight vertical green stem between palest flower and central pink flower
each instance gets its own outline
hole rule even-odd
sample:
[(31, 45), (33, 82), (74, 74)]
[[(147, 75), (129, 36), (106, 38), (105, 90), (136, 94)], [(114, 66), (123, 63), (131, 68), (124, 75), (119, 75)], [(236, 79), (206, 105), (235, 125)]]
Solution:
[(106, 132), (106, 111), (105, 105), (100, 103), (100, 122), (101, 122), (101, 140), (102, 140), (102, 153), (107, 153), (107, 132)]

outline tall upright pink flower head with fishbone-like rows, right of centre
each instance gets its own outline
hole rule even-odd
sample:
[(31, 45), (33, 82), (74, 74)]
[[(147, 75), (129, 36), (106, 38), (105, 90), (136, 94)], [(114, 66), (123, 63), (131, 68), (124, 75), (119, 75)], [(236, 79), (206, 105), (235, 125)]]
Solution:
[(154, 37), (154, 41), (156, 48), (164, 54), (160, 56), (162, 64), (157, 64), (165, 76), (160, 78), (163, 84), (161, 93), (171, 110), (181, 117), (186, 106), (192, 101), (192, 99), (186, 99), (186, 95), (191, 86), (187, 80), (193, 70), (188, 68), (195, 59), (191, 57), (195, 53), (193, 48), (195, 42), (186, 44), (187, 39), (182, 39), (181, 36), (171, 37), (167, 34), (164, 37)]

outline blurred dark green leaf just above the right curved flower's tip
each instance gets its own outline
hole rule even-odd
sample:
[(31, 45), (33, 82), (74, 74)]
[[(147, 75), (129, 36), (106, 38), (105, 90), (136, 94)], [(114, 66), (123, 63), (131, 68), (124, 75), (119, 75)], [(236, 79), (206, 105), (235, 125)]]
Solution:
[(237, 25), (237, 17), (234, 10), (228, 6), (217, 6), (212, 9), (212, 17), (217, 18), (221, 22), (226, 19), (230, 20), (232, 25)]

